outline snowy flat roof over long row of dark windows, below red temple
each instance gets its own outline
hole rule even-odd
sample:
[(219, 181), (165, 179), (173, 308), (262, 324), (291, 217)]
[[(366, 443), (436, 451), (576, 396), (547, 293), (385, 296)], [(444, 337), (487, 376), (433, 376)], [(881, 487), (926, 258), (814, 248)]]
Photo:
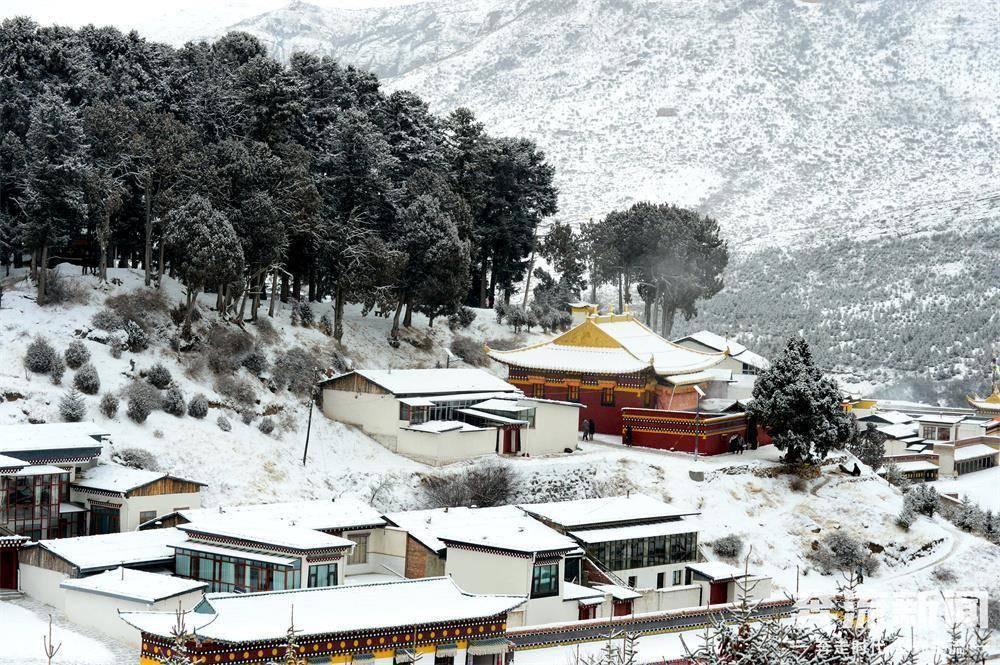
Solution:
[(524, 504), (520, 507), (532, 515), (537, 515), (566, 529), (618, 522), (671, 520), (685, 515), (697, 514), (696, 511), (677, 508), (659, 499), (639, 493), (632, 493), (629, 496)]

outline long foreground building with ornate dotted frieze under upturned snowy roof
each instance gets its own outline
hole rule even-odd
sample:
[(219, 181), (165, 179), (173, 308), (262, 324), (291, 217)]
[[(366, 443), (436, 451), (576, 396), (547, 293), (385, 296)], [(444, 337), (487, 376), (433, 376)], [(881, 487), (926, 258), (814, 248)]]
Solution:
[[(315, 663), (496, 665), (510, 649), (508, 613), (522, 596), (469, 593), (448, 578), (352, 587), (213, 593), (185, 626), (199, 637), (192, 662), (233, 665), (280, 660), (293, 624), (300, 653)], [(142, 632), (140, 660), (158, 662), (172, 646), (169, 612), (123, 612)]]

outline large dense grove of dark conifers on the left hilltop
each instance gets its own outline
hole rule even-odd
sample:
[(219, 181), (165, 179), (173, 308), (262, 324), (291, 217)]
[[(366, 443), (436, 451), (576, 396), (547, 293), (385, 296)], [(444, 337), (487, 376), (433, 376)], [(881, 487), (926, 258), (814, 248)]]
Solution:
[[(556, 212), (530, 140), (432, 114), (371, 73), (253, 36), (181, 48), (109, 27), (0, 24), (0, 260), (44, 303), (72, 261), (166, 274), (220, 313), (332, 298), (408, 324), (509, 300)], [(276, 296), (276, 297), (272, 297)]]

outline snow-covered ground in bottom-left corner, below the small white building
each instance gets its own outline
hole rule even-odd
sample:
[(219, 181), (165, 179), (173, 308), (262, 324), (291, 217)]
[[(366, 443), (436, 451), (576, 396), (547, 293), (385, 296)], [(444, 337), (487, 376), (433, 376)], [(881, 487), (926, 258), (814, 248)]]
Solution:
[(92, 631), (70, 624), (51, 607), (27, 598), (0, 601), (0, 665), (45, 665), (42, 637), (48, 637), (52, 615), (52, 641), (61, 644), (52, 660), (58, 665), (127, 665), (138, 653), (113, 640), (90, 635)]

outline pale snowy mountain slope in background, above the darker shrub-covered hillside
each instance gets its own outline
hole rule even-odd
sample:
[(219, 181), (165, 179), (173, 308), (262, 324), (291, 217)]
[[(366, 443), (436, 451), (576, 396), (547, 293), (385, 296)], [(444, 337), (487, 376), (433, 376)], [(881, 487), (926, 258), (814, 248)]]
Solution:
[(573, 221), (666, 200), (805, 242), (998, 190), (992, 0), (296, 2), (232, 28), (535, 138)]

